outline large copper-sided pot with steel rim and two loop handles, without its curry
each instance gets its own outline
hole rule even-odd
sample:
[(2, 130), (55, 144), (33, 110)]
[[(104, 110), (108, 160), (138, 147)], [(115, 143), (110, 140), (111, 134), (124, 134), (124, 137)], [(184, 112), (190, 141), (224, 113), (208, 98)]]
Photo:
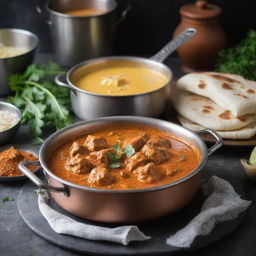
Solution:
[[(61, 179), (48, 168), (48, 158), (60, 144), (98, 128), (102, 129), (109, 124), (124, 123), (153, 126), (183, 138), (199, 150), (200, 163), (189, 175), (176, 182), (136, 190), (97, 189), (81, 186)], [(202, 134), (212, 135), (217, 140), (216, 143), (207, 149), (199, 136)], [(54, 133), (42, 145), (39, 161), (22, 162), (19, 167), (37, 186), (48, 190), (58, 205), (76, 216), (102, 222), (137, 222), (164, 216), (190, 202), (199, 188), (201, 170), (208, 156), (221, 145), (221, 137), (210, 129), (196, 134), (177, 124), (159, 119), (131, 116), (106, 117), (79, 122)], [(26, 168), (26, 165), (35, 164), (43, 167), (48, 184)]]

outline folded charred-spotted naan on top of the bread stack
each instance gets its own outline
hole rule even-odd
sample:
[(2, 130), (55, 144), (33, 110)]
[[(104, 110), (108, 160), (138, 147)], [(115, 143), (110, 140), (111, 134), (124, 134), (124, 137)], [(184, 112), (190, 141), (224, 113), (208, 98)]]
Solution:
[(235, 117), (256, 113), (256, 82), (238, 75), (190, 73), (177, 81), (177, 88), (208, 97)]

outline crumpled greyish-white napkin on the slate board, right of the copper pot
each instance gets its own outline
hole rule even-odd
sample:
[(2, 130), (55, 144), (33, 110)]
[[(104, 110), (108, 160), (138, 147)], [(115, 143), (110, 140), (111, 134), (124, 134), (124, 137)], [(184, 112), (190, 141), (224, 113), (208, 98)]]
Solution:
[(210, 234), (216, 224), (237, 218), (251, 204), (251, 201), (241, 199), (229, 182), (216, 176), (212, 176), (202, 189), (207, 198), (200, 213), (167, 238), (167, 244), (188, 248), (197, 236)]

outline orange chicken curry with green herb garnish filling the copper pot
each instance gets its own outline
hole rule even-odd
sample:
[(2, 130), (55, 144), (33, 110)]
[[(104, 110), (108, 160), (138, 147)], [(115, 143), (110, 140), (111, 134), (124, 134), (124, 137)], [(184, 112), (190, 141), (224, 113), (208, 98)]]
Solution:
[(102, 189), (161, 186), (191, 173), (200, 153), (183, 139), (153, 127), (120, 125), (72, 139), (48, 167), (73, 183)]

